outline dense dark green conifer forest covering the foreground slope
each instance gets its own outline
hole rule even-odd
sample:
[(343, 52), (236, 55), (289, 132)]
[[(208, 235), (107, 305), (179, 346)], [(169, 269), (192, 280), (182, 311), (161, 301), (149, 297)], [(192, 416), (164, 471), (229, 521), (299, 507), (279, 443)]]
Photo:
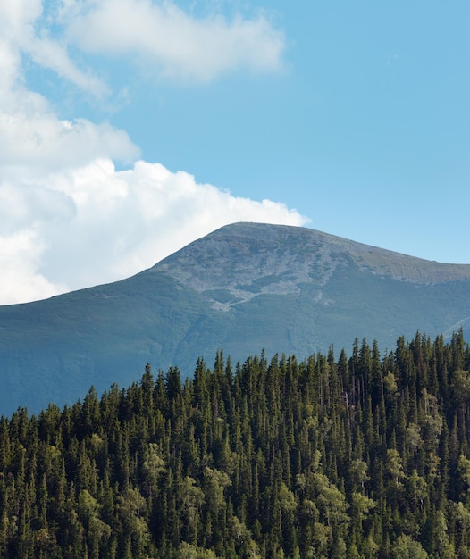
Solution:
[(2, 417), (0, 556), (466, 559), (469, 445), (462, 331), (147, 366)]

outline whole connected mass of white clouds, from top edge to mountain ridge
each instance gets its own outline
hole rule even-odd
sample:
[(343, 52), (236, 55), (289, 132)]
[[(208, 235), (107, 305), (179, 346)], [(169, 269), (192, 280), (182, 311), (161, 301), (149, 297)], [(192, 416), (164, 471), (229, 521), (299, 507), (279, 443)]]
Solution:
[[(154, 58), (168, 74), (211, 79), (243, 65), (278, 66), (282, 38), (264, 18), (197, 21), (172, 3), (147, 0), (52, 5), (60, 9), (45, 14), (40, 0), (0, 2), (0, 305), (128, 277), (233, 221), (306, 223), (284, 204), (232, 196), (186, 172), (140, 161), (125, 131), (61, 119), (26, 85), (24, 54), (82, 89), (106, 94), (47, 25), (70, 29), (84, 49), (116, 54), (123, 47)], [(105, 25), (111, 7), (114, 19)], [(129, 168), (116, 170), (117, 161)]]

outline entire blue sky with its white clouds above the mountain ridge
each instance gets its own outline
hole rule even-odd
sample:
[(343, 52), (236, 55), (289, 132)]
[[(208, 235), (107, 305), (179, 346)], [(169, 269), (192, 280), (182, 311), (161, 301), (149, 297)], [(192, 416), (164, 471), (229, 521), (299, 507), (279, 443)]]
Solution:
[(470, 263), (470, 4), (4, 0), (0, 304), (231, 221)]

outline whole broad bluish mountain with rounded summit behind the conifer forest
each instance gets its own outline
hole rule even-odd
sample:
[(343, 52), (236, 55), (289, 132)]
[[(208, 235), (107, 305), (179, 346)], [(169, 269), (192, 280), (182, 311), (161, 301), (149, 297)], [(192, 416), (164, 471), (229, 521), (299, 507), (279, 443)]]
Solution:
[[(128, 280), (0, 306), (0, 413), (62, 406), (217, 349), (303, 359), (355, 338), (382, 350), (470, 321), (470, 265), (429, 262), (313, 229), (237, 223)], [(209, 363), (210, 365), (211, 363)]]

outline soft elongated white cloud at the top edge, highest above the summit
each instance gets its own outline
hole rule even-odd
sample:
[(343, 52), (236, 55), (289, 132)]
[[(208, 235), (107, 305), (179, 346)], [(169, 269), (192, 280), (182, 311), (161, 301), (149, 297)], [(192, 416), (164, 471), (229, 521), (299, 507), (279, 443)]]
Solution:
[(67, 34), (84, 51), (132, 54), (147, 71), (210, 80), (224, 71), (277, 71), (285, 39), (263, 15), (196, 19), (173, 2), (85, 1), (72, 8)]

